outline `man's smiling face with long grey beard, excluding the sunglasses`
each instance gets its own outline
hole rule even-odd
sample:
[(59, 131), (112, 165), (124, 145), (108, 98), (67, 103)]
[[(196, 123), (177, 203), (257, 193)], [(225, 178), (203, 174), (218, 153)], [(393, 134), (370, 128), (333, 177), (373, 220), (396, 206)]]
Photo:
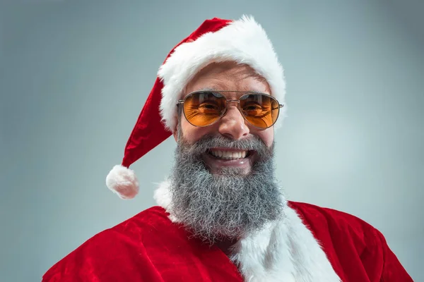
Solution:
[[(204, 88), (269, 94), (269, 85), (252, 69), (233, 63), (204, 68), (185, 94)], [(227, 99), (238, 95), (230, 93)], [(182, 114), (174, 136), (170, 212), (194, 236), (211, 243), (233, 240), (281, 219), (284, 200), (274, 177), (272, 128), (249, 125), (230, 102), (226, 114), (204, 128), (191, 125)], [(224, 159), (228, 152), (240, 153)]]

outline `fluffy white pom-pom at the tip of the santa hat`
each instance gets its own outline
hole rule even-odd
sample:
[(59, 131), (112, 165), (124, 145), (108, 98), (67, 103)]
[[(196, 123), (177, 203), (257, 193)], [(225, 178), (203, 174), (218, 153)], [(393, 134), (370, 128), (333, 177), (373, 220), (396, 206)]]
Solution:
[(120, 164), (114, 166), (107, 174), (106, 185), (124, 200), (132, 199), (139, 193), (139, 180), (136, 173)]

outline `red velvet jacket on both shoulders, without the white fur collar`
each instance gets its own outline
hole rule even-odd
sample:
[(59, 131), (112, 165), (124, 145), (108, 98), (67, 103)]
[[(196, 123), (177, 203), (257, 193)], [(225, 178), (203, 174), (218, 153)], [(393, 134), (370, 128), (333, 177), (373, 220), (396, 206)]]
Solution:
[[(355, 216), (289, 202), (344, 282), (413, 281), (382, 233)], [(98, 233), (61, 259), (42, 282), (243, 281), (218, 248), (187, 238), (162, 207)]]

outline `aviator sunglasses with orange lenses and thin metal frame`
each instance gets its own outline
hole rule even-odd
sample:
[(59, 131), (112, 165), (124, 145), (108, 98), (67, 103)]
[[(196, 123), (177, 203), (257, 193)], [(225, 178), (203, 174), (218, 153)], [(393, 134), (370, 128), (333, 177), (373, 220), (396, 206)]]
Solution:
[[(244, 93), (237, 100), (227, 99), (225, 92)], [(189, 93), (178, 105), (183, 105), (184, 117), (198, 127), (216, 123), (225, 115), (229, 102), (237, 103), (237, 108), (245, 121), (256, 128), (270, 128), (276, 123), (282, 104), (269, 94), (241, 91), (196, 91)]]

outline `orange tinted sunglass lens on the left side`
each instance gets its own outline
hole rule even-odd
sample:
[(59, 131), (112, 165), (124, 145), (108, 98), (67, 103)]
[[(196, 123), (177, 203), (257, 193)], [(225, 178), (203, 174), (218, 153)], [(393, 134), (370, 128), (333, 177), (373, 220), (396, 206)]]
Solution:
[(196, 126), (211, 125), (225, 111), (225, 97), (216, 92), (194, 92), (184, 100), (184, 115)]

